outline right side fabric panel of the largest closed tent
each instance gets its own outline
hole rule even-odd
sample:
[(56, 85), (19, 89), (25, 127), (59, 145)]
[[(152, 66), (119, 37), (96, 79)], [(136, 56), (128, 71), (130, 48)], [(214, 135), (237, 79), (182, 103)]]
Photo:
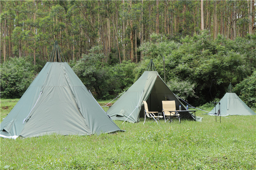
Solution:
[(91, 132), (100, 134), (121, 130), (100, 107), (68, 63), (63, 63), (62, 69), (76, 104)]

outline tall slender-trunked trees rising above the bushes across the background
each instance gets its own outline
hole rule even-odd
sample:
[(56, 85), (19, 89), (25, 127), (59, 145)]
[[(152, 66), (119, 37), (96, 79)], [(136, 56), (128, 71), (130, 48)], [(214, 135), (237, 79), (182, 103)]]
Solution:
[[(138, 47), (153, 33), (180, 41), (208, 30), (212, 39), (252, 35), (255, 1), (1, 1), (1, 63), (12, 57), (48, 60), (58, 41), (67, 61), (102, 46), (108, 62), (143, 60)], [(113, 61), (113, 60), (112, 60)]]

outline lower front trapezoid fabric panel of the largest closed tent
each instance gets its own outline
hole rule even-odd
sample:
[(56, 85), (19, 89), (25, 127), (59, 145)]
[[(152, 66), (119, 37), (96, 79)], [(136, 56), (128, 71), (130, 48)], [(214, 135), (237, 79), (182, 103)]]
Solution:
[[(21, 132), (22, 137), (36, 137), (44, 134), (91, 135), (84, 122), (69, 87), (43, 87), (44, 95), (28, 117)], [(24, 122), (25, 123), (25, 122)]]

